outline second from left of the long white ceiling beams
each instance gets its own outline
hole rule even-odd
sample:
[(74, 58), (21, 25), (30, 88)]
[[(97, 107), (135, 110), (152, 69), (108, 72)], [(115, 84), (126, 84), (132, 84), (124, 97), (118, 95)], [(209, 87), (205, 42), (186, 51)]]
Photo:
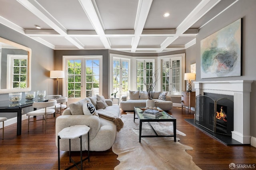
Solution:
[(79, 0), (84, 12), (88, 16), (92, 26), (97, 34), (100, 36), (100, 40), (106, 49), (110, 49), (110, 42), (105, 36), (104, 26), (98, 13), (98, 8), (94, 0)]

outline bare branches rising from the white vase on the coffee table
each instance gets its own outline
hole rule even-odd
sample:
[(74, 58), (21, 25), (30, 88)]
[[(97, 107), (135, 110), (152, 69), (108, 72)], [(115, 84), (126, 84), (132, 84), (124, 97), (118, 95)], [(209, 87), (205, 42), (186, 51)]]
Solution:
[(146, 91), (148, 93), (148, 100), (152, 100), (154, 97), (157, 81), (158, 81), (157, 70), (154, 72), (151, 72), (150, 76), (143, 80), (143, 84), (146, 86)]

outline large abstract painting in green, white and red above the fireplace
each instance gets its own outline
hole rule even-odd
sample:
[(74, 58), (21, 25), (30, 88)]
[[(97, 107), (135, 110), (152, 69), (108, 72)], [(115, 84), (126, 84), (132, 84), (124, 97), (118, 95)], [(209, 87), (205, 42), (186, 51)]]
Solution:
[(242, 18), (201, 40), (201, 78), (242, 75)]

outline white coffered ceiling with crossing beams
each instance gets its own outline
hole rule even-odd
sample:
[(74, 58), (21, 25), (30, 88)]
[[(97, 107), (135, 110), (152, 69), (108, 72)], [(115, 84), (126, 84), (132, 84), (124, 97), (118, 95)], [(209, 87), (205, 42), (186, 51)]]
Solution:
[(0, 0), (0, 23), (54, 50), (158, 53), (192, 46), (198, 30), (236, 1)]

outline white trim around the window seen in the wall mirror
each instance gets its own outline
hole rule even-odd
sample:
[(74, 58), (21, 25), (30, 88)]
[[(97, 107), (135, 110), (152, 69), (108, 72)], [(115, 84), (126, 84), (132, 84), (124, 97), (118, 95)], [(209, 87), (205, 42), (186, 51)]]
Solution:
[[(28, 56), (27, 55), (7, 55), (7, 72), (6, 72), (6, 87), (7, 89), (12, 89), (12, 80), (13, 80), (13, 60), (14, 59), (24, 59), (27, 60), (27, 75), (28, 75)], [(26, 86), (28, 86), (28, 78), (26, 78)]]

